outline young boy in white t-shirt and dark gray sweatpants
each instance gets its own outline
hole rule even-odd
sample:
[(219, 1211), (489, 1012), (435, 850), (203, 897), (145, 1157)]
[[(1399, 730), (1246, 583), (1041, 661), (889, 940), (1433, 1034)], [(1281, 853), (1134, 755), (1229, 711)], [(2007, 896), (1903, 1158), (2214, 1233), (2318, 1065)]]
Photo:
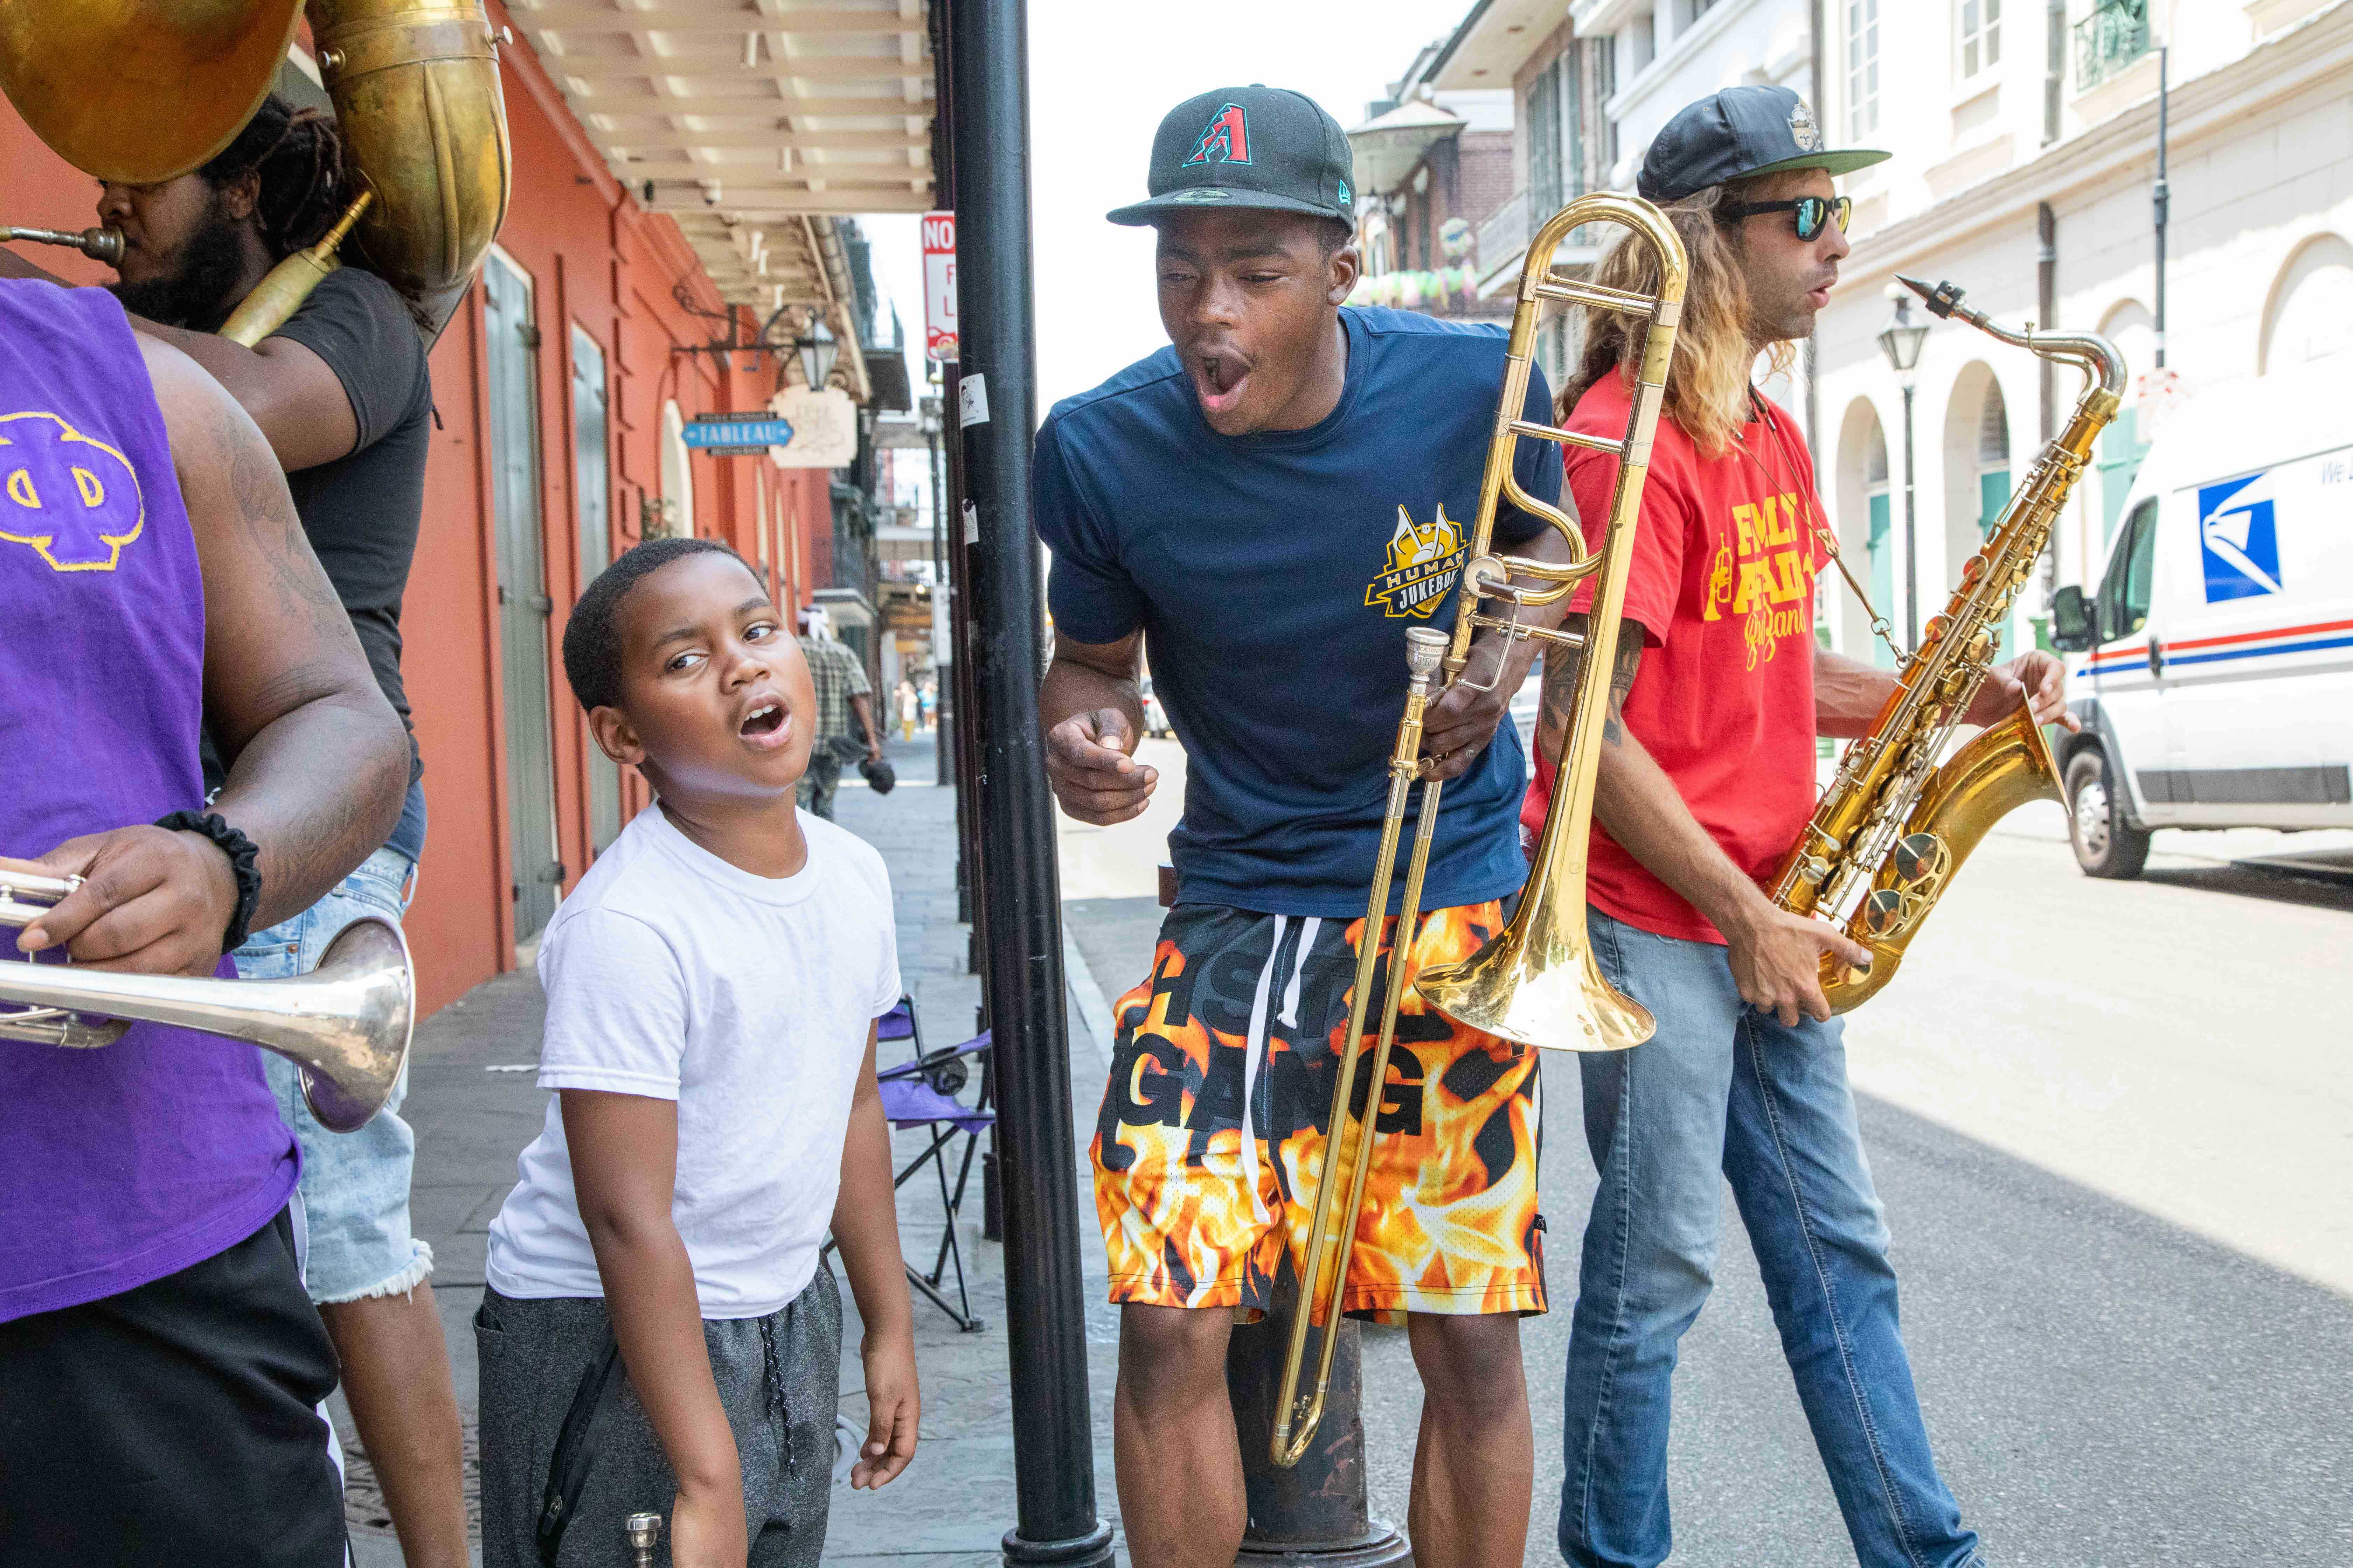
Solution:
[(814, 1566), (842, 1333), (828, 1227), (866, 1324), (852, 1486), (915, 1453), (875, 1093), (875, 1018), (899, 1001), (889, 877), (793, 804), (809, 670), (727, 545), (616, 559), (572, 611), (565, 675), (659, 799), (539, 943), (555, 1095), (475, 1316), (482, 1563), (621, 1563), (626, 1519), (654, 1512), (678, 1568)]

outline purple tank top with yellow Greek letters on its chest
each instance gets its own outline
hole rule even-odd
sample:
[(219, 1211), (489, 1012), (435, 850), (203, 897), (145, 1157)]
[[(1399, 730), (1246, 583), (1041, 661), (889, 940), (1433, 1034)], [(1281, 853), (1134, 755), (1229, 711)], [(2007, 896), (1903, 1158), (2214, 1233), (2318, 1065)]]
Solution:
[[(0, 280), (0, 856), (200, 806), (202, 677), (195, 541), (122, 306)], [(294, 1173), (254, 1046), (0, 1039), (0, 1321), (212, 1258)]]

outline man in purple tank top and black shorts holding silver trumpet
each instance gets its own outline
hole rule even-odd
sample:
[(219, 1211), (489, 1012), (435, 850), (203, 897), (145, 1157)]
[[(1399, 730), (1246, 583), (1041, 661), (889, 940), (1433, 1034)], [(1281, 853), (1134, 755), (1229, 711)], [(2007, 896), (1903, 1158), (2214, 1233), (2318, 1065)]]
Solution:
[[(398, 820), (407, 741), (268, 444), (94, 289), (0, 282), (0, 867), (85, 879), (7, 959), (233, 976)], [(0, 1037), (0, 1568), (344, 1561), (296, 1164), (249, 1046)]]

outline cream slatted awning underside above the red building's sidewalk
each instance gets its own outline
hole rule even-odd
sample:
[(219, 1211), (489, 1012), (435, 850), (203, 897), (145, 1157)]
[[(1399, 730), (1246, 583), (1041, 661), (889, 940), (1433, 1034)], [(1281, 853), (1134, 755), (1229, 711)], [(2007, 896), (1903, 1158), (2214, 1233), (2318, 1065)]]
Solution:
[[(833, 306), (833, 216), (932, 205), (925, 0), (513, 0), (614, 179), (729, 303)], [(835, 329), (838, 336), (840, 327)]]

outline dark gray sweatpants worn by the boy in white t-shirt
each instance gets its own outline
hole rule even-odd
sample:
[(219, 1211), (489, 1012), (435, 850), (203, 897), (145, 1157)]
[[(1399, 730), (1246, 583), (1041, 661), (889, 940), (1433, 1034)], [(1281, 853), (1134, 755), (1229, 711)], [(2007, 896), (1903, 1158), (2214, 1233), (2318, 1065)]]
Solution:
[[(534, 1530), (555, 1434), (591, 1356), (605, 1342), (602, 1300), (515, 1300), (482, 1293), (473, 1340), (482, 1359), (482, 1568), (539, 1568)], [(842, 1295), (819, 1267), (772, 1316), (704, 1319), (711, 1373), (744, 1462), (751, 1568), (816, 1568), (833, 1500), (833, 1410), (840, 1396)], [(671, 1561), (678, 1476), (624, 1378), (581, 1488), (560, 1568), (628, 1568), (624, 1523), (661, 1514), (654, 1561)]]

